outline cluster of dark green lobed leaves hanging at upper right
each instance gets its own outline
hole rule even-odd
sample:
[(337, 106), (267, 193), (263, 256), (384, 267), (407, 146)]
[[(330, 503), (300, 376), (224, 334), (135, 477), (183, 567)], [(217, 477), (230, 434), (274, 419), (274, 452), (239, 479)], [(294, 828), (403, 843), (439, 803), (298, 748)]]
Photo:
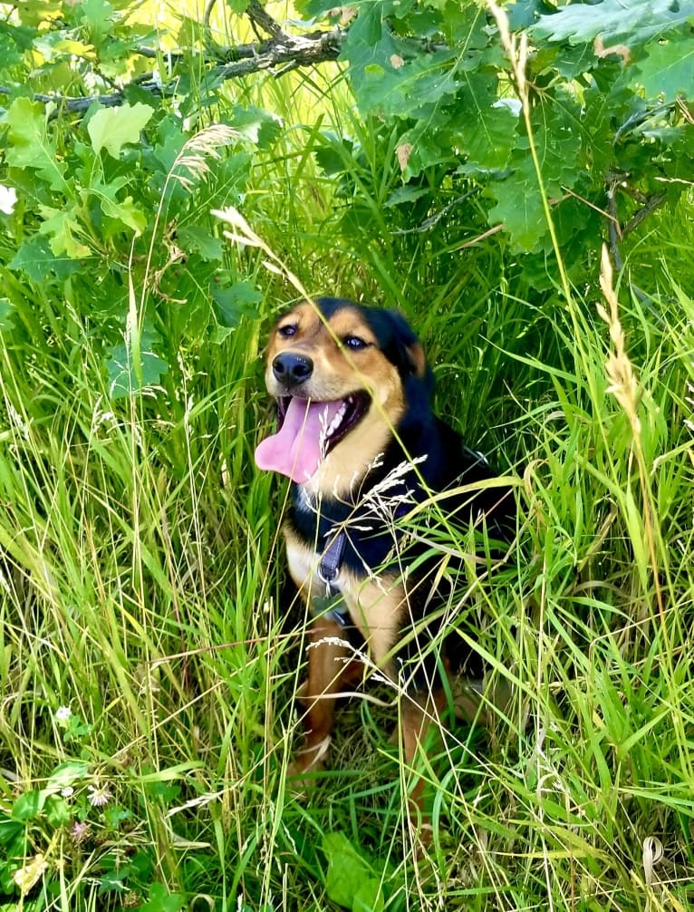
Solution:
[[(342, 57), (362, 114), (392, 125), (398, 182), (428, 185), (430, 209), (441, 205), (440, 188), (451, 200), (477, 194), (480, 234), (502, 225), (513, 249), (544, 257), (552, 238), (541, 183), (575, 251), (590, 249), (604, 230), (601, 212), (612, 211), (615, 188), (614, 214), (623, 223), (637, 212), (634, 200), (656, 196), (663, 181), (671, 200), (682, 192), (684, 184), (668, 181), (689, 171), (694, 143), (691, 120), (675, 104), (692, 85), (690, 14), (671, 6), (606, 0), (540, 16), (533, 53), (523, 60), (530, 125), (513, 103), (515, 75), (499, 32), (478, 4), (360, 4)], [(314, 14), (328, 9), (309, 5)], [(509, 12), (527, 26), (540, 9), (516, 4)], [(598, 35), (605, 44), (627, 41), (632, 56), (619, 47), (598, 53), (588, 44)], [(474, 226), (465, 227), (461, 242), (475, 236)], [(575, 279), (585, 265), (570, 257)]]

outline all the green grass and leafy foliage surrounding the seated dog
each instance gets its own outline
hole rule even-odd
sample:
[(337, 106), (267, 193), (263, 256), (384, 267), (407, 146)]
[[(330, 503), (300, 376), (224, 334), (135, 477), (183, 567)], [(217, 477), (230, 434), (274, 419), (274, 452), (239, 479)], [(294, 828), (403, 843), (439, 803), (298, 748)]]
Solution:
[[(225, 81), (246, 6), (0, 24), (0, 909), (691, 907), (689, 7), (523, 0), (513, 48), (477, 3), (365, 2), (337, 66)], [(402, 308), (518, 482), (451, 606), (488, 725), (432, 732), (425, 850), (388, 683), (291, 791), (277, 269)]]

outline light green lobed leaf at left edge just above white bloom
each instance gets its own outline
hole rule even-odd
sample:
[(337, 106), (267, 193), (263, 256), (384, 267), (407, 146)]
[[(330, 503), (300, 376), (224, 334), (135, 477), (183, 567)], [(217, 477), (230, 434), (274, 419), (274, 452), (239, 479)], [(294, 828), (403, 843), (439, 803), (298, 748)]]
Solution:
[(58, 159), (55, 140), (48, 133), (44, 105), (29, 98), (16, 98), (5, 114), (7, 164), (36, 170), (52, 190), (65, 188), (65, 165)]

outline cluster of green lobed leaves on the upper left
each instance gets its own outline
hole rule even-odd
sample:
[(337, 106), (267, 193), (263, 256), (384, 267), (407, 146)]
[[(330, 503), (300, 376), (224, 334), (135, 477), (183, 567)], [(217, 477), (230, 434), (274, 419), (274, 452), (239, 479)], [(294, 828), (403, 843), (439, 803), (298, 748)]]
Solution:
[[(78, 300), (82, 289), (98, 287), (88, 317), (105, 354), (94, 383), (118, 399), (175, 375), (182, 346), (220, 345), (256, 313), (254, 265), (230, 254), (210, 210), (243, 199), (254, 156), (272, 147), (281, 121), (236, 104), (220, 118), (226, 132), (206, 132), (209, 98), (193, 110), (184, 86), (164, 102), (135, 85), (118, 107), (56, 117), (55, 106), (26, 98), (29, 65), (33, 85), (58, 95), (88, 94), (94, 80), (137, 78), (141, 69), (133, 71), (129, 52), (137, 34), (126, 25), (131, 5), (63, 12), (22, 5), (21, 24), (5, 26), (24, 51), (0, 67), (16, 86), (2, 124), (5, 181), (18, 196), (5, 221), (12, 251), (5, 319), (15, 330), (6, 340), (19, 350), (28, 333), (39, 344), (27, 313), (37, 294), (67, 282), (68, 300)], [(138, 333), (127, 326), (133, 307)]]

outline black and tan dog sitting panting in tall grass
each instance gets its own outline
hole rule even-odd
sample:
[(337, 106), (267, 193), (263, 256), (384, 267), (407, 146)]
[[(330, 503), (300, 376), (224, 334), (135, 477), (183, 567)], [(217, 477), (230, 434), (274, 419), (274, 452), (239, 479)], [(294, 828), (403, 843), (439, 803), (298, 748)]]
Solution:
[[(336, 696), (363, 673), (366, 648), (371, 666), (407, 695), (400, 720), (412, 764), (445, 702), (443, 676), (469, 657), (455, 631), (439, 636), (451, 589), (428, 536), (409, 533), (408, 514), (443, 492), (443, 521), (464, 541), (471, 527), (505, 539), (515, 524), (511, 489), (432, 413), (430, 368), (393, 311), (330, 297), (295, 306), (274, 327), (265, 379), (278, 430), (255, 461), (293, 482), (289, 572), (313, 617), (297, 772), (323, 765)], [(432, 648), (441, 641), (443, 655)]]

